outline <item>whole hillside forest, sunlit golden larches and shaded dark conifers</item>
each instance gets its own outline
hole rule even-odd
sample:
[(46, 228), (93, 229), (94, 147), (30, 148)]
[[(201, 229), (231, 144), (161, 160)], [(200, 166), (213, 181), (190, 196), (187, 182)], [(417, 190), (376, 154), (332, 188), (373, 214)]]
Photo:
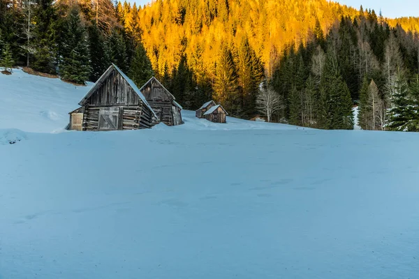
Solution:
[(0, 0), (0, 67), (85, 84), (115, 63), (187, 110), (213, 99), (244, 119), (419, 131), (418, 32), (419, 18), (326, 0)]

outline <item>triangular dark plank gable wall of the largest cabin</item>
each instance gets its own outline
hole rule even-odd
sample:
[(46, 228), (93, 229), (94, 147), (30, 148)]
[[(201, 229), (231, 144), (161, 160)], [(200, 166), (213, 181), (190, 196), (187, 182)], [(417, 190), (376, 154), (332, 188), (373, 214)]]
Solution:
[(138, 95), (117, 70), (112, 70), (108, 77), (87, 99), (87, 105), (138, 105)]

